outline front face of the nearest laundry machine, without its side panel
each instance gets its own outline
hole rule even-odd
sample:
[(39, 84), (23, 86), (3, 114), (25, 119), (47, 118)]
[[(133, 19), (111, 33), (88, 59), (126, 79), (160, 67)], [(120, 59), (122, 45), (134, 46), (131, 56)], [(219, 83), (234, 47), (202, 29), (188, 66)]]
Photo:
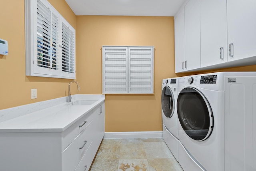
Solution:
[(220, 77), (179, 78), (177, 114), (184, 171), (224, 171), (224, 83)]

